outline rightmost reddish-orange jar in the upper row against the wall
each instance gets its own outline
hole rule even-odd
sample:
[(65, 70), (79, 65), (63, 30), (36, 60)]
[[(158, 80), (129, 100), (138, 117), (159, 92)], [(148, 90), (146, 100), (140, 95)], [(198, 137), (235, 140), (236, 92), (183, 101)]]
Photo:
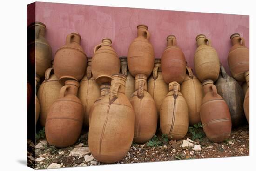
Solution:
[(249, 71), (249, 49), (245, 40), (238, 33), (230, 36), (232, 47), (229, 51), (228, 64), (231, 75), (236, 81), (245, 81), (244, 72)]

